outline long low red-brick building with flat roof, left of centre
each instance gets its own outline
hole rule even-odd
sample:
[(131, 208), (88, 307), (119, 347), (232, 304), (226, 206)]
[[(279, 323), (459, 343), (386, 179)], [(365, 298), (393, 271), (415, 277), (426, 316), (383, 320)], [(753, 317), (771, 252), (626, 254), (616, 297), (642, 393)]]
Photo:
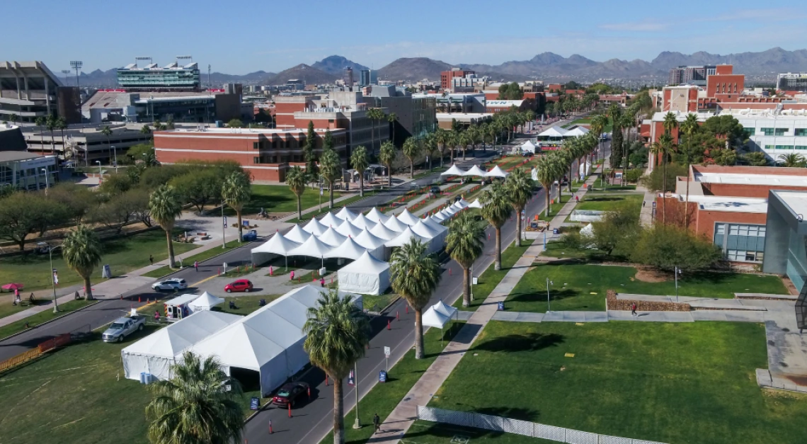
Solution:
[[(313, 114), (313, 113), (307, 113)], [(341, 128), (316, 128), (314, 153), (322, 153), (323, 139), (330, 132), (333, 149), (346, 166), (348, 134)], [(154, 133), (154, 152), (161, 163), (189, 159), (233, 160), (248, 170), (254, 180), (282, 182), (292, 165), (305, 166), (303, 147), (307, 129), (274, 128), (180, 128)]]

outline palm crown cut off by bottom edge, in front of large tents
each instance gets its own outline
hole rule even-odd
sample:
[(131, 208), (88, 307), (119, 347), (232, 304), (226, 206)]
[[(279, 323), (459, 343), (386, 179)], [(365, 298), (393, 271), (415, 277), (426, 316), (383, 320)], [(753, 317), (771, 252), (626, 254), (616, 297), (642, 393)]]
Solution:
[(171, 367), (174, 377), (148, 386), (148, 440), (154, 444), (240, 442), (244, 428), (240, 383), (215, 357), (192, 352)]

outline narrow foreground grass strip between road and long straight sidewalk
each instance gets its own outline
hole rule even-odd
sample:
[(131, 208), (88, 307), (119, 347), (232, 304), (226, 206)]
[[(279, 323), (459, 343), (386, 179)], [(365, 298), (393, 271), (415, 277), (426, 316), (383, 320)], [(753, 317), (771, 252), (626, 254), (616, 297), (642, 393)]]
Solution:
[[(458, 333), (462, 328), (464, 322), (454, 321), (452, 327), (445, 330), (445, 337), (441, 341), (442, 333), (439, 329), (429, 329), (424, 333), (423, 345), (425, 351), (425, 358), (415, 359), (415, 350), (409, 350), (403, 358), (390, 368), (387, 374), (386, 383), (378, 383), (359, 400), (359, 419), (362, 421), (361, 429), (353, 429), (353, 421), (356, 420), (356, 410), (351, 409), (345, 415), (345, 442), (350, 444), (358, 444), (359, 442), (366, 442), (367, 439), (373, 434), (373, 415), (378, 413), (381, 421), (387, 419), (387, 416), (395, 409), (395, 406), (403, 399), (403, 396), (412, 389), (420, 376), (423, 375), (429, 366), (432, 365), (437, 354), (439, 354), (454, 334)], [(333, 442), (333, 435), (328, 434), (320, 441), (320, 444), (328, 444)]]

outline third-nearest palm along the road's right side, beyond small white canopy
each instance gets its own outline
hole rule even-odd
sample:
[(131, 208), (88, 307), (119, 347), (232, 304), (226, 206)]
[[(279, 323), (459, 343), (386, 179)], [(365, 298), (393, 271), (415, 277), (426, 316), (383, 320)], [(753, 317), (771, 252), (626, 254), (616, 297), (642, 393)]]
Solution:
[(462, 266), (463, 307), (470, 305), (470, 267), (482, 255), (484, 238), (484, 227), (469, 212), (462, 212), (451, 221), (451, 229), (445, 237), (445, 251)]

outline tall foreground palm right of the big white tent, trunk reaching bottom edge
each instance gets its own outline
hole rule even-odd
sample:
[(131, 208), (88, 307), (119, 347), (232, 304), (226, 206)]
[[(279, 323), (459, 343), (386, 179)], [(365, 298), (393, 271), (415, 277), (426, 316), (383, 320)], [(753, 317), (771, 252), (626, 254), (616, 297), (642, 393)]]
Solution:
[(370, 337), (370, 320), (353, 304), (353, 296), (340, 298), (331, 290), (320, 296), (315, 307), (308, 308), (303, 342), (312, 364), (320, 367), (333, 381), (333, 442), (345, 442), (345, 407), (342, 381), (359, 358)]

